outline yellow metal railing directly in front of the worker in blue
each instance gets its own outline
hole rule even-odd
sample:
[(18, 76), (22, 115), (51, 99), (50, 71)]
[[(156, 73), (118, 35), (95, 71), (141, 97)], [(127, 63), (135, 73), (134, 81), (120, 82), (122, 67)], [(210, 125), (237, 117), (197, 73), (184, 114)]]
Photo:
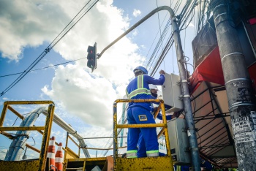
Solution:
[[(151, 102), (157, 102), (159, 103), (159, 107), (156, 111), (156, 114), (154, 115), (154, 118), (157, 118), (157, 114), (159, 113), (159, 110), (162, 110), (162, 121), (163, 123), (146, 123), (146, 124), (118, 124), (117, 123), (117, 104), (118, 103), (125, 103), (125, 102), (145, 102), (145, 103), (151, 103)], [(117, 140), (117, 129), (123, 129), (123, 128), (154, 128), (154, 127), (162, 127), (163, 129), (161, 132), (159, 132), (158, 137), (165, 132), (165, 144), (166, 144), (166, 150), (167, 150), (167, 156), (171, 158), (170, 153), (170, 142), (169, 142), (169, 135), (167, 131), (167, 120), (165, 115), (165, 104), (162, 99), (117, 99), (113, 103), (113, 158), (114, 158), (114, 170), (116, 170), (116, 161), (118, 157), (118, 140)], [(172, 159), (170, 159), (170, 164), (173, 165)]]

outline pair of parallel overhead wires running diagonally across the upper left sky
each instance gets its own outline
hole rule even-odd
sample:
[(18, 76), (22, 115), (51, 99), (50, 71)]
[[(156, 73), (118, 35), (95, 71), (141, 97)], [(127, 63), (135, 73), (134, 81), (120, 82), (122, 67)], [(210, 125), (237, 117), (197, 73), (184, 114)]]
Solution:
[[(90, 2), (91, 0), (89, 0)], [(78, 23), (78, 21), (83, 18), (84, 15), (86, 15), (87, 12), (89, 12), (89, 10), (94, 7), (95, 4), (97, 4), (99, 0), (95, 0), (94, 2), (92, 2), (90, 4), (89, 7), (87, 7), (86, 11), (85, 12), (82, 12), (82, 9), (84, 9), (88, 3), (86, 3), (86, 5), (80, 10), (80, 12), (82, 12), (80, 14), (80, 12), (78, 12), (77, 15), (75, 15), (74, 18), (72, 18), (72, 20), (69, 22), (69, 24), (61, 31), (61, 33), (53, 40), (53, 42), (50, 43), (50, 45), (48, 45), (48, 47), (45, 48), (45, 50), (32, 62), (32, 64), (29, 65), (29, 67), (27, 69), (24, 70), (24, 72), (18, 77), (16, 78), (11, 84), (10, 86), (8, 86), (7, 88), (4, 89), (4, 91), (1, 92), (0, 96), (3, 96), (5, 93), (7, 93), (7, 91), (10, 91), (10, 89), (15, 86), (23, 77), (25, 77), (29, 71), (31, 71), (31, 69), (34, 68), (34, 66), (36, 66), (39, 61), (42, 60), (42, 58), (44, 58), (49, 52), (51, 49), (53, 49), (53, 47), (55, 45), (57, 45), (57, 43), (71, 30), (71, 28), (73, 28), (76, 23)], [(80, 15), (78, 17), (78, 19), (76, 18), (78, 15)], [(74, 21), (74, 22), (72, 22)]]

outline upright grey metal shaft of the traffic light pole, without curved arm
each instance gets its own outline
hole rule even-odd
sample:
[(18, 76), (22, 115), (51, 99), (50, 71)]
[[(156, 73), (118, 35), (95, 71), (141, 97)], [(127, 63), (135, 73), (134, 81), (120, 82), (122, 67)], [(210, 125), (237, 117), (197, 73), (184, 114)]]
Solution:
[(178, 71), (181, 77), (181, 91), (183, 95), (183, 103), (184, 103), (184, 111), (185, 111), (185, 119), (187, 122), (187, 135), (189, 137), (189, 150), (191, 151), (192, 156), (192, 167), (195, 171), (200, 171), (200, 158), (198, 152), (197, 145), (197, 135), (195, 132), (195, 122), (193, 120), (192, 115), (192, 106), (191, 99), (189, 95), (189, 85), (187, 83), (187, 72), (184, 66), (184, 56), (183, 50), (181, 46), (181, 37), (179, 35), (178, 25), (176, 23), (176, 18), (173, 16), (171, 18), (172, 26), (173, 26), (173, 37), (176, 47), (176, 55), (178, 59)]

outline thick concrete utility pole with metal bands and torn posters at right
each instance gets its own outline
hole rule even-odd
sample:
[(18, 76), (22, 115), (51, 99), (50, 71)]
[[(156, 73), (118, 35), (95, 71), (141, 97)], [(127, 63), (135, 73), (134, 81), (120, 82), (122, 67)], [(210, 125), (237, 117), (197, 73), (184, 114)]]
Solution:
[(212, 0), (238, 169), (256, 170), (256, 104), (252, 80), (225, 0)]

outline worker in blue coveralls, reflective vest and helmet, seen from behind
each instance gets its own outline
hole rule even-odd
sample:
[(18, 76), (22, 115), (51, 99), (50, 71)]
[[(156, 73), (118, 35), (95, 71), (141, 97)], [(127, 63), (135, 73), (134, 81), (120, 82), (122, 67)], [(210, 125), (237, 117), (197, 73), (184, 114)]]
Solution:
[[(165, 83), (165, 71), (160, 70), (159, 79), (148, 76), (148, 71), (143, 66), (136, 67), (133, 79), (127, 86), (128, 99), (151, 99), (148, 84), (163, 85)], [(151, 103), (130, 102), (127, 109), (128, 124), (156, 123), (151, 114)], [(156, 128), (129, 128), (127, 136), (127, 158), (137, 158), (138, 140), (140, 132), (146, 142), (146, 155), (159, 156)]]

